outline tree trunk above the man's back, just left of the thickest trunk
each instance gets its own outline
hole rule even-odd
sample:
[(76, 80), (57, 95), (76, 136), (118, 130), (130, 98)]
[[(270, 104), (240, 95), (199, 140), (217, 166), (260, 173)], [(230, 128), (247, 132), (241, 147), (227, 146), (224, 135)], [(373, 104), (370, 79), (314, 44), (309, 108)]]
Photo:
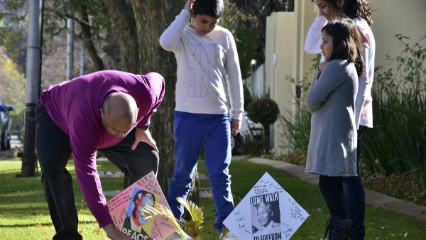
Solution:
[(139, 67), (138, 39), (136, 38), (136, 22), (133, 9), (127, 1), (104, 0), (109, 11), (111, 28), (116, 33), (119, 47), (119, 60), (116, 70), (137, 72)]

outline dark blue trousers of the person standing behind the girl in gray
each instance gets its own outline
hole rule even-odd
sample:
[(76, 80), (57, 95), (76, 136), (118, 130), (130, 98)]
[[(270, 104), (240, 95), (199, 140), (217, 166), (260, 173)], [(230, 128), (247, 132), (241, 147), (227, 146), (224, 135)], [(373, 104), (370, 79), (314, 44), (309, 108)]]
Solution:
[(366, 227), (364, 225), (366, 214), (366, 193), (360, 176), (359, 155), (361, 153), (362, 134), (366, 127), (359, 126), (358, 148), (356, 150), (356, 164), (358, 176), (343, 178), (343, 195), (346, 202), (346, 212), (352, 220), (352, 239), (364, 239)]

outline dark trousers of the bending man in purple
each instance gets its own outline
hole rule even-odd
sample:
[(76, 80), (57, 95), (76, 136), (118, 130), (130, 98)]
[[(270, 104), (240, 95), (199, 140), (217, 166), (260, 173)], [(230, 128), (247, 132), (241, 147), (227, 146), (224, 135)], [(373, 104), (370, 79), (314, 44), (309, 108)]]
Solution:
[[(50, 119), (45, 107), (35, 108), (35, 146), (43, 171), (41, 181), (56, 234), (53, 239), (82, 239), (78, 233), (72, 178), (65, 168), (71, 155), (70, 137)], [(124, 173), (124, 188), (158, 170), (158, 153), (139, 143), (132, 151), (135, 129), (116, 146), (98, 149)]]

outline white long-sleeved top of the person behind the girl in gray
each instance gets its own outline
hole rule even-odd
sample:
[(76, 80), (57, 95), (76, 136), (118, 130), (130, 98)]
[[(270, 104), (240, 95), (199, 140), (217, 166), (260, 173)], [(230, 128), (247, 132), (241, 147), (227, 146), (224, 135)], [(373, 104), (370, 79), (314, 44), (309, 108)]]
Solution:
[[(374, 76), (374, 54), (376, 53), (376, 42), (374, 40), (373, 31), (364, 19), (352, 19), (359, 31), (368, 38), (362, 44), (364, 52), (364, 72), (365, 75), (358, 78), (359, 87), (355, 100), (355, 120), (356, 126), (373, 127), (373, 98), (371, 97), (371, 86), (373, 85)], [(321, 30), (327, 25), (327, 19), (324, 16), (317, 16), (310, 26), (305, 39), (306, 53), (321, 53), (320, 45), (322, 43)], [(323, 61), (324, 58), (321, 58)], [(362, 113), (362, 114), (361, 114)]]

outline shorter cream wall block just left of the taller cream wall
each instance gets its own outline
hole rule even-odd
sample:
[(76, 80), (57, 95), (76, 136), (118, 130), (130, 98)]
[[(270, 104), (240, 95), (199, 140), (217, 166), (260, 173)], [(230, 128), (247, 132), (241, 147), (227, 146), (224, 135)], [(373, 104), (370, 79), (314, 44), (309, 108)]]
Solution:
[[(280, 114), (295, 111), (295, 83), (288, 80), (297, 73), (297, 13), (275, 12), (266, 20), (266, 93), (277, 102)], [(271, 146), (285, 145), (280, 121), (271, 127)]]

